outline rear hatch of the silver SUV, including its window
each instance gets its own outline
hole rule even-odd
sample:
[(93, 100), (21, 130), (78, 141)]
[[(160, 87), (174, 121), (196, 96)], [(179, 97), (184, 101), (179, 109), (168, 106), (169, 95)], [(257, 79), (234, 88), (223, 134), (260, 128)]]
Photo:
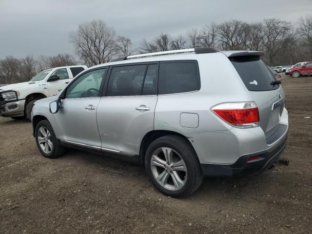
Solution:
[(259, 110), (260, 127), (266, 138), (278, 129), (284, 109), (284, 90), (274, 84), (274, 76), (267, 65), (257, 55), (229, 56), (234, 68), (249, 90)]

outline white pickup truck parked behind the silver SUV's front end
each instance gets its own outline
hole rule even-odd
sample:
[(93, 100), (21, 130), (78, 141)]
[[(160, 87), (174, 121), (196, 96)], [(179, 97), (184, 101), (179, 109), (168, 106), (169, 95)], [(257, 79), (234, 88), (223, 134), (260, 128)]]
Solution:
[(87, 66), (65, 66), (39, 72), (29, 82), (0, 87), (0, 116), (31, 119), (34, 102), (57, 95)]

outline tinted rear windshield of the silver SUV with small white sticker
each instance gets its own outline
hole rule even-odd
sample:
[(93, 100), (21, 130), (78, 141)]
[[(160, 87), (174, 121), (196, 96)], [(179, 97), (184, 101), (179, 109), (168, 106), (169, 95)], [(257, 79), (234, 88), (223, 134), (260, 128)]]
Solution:
[(258, 56), (241, 56), (229, 58), (250, 91), (274, 90), (279, 85), (272, 85), (273, 74)]

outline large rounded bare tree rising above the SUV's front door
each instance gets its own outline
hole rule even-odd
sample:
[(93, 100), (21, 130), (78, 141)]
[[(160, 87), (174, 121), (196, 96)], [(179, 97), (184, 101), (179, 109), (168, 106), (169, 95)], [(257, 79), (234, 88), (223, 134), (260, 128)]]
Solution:
[(108, 62), (117, 54), (116, 32), (102, 20), (79, 24), (69, 38), (88, 66)]

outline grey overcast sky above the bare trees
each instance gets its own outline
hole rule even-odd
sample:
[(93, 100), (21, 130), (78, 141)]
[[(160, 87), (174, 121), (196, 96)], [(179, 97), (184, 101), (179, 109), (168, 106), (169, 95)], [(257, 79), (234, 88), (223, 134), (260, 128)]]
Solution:
[(0, 59), (74, 54), (70, 31), (104, 20), (133, 47), (159, 33), (184, 34), (210, 22), (277, 18), (296, 24), (312, 0), (0, 0)]

